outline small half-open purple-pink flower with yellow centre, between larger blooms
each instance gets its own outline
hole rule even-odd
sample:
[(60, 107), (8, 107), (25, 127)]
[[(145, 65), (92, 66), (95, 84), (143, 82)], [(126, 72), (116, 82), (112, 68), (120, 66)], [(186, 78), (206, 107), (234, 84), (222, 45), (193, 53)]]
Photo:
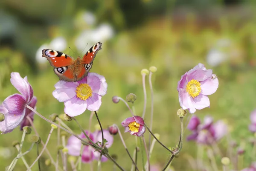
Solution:
[(140, 116), (126, 118), (121, 124), (125, 127), (125, 133), (130, 132), (131, 135), (141, 136), (146, 131), (144, 120)]

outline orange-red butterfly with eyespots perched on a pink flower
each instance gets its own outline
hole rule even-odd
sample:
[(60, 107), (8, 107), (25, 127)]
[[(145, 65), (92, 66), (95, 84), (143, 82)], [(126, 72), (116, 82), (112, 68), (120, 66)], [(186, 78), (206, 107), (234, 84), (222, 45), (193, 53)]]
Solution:
[(76, 60), (71, 56), (52, 49), (42, 50), (42, 57), (48, 59), (54, 72), (60, 80), (65, 81), (79, 81), (88, 75), (92, 68), (94, 57), (101, 49), (102, 43), (98, 42), (92, 46), (83, 56), (78, 57)]

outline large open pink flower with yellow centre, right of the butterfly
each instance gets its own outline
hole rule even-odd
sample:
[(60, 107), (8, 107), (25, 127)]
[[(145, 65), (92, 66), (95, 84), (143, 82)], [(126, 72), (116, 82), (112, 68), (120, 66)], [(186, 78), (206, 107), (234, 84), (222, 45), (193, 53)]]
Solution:
[(182, 75), (178, 81), (180, 106), (183, 110), (188, 109), (190, 113), (195, 113), (196, 109), (209, 107), (210, 101), (207, 95), (215, 93), (217, 88), (217, 76), (199, 63)]

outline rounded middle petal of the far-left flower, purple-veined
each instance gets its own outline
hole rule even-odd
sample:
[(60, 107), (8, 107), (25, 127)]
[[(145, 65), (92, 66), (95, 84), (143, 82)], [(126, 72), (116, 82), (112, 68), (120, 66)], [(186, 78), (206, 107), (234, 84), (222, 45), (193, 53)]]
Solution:
[(13, 94), (3, 101), (3, 105), (10, 114), (19, 115), (25, 110), (26, 99), (20, 94)]

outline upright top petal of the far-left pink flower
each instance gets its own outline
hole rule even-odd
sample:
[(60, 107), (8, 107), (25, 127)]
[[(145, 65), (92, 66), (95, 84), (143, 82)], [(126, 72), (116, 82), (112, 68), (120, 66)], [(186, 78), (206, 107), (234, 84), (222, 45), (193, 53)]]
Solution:
[(25, 97), (27, 103), (31, 101), (33, 89), (26, 80), (21, 78), (20, 73), (11, 73), (11, 83)]

